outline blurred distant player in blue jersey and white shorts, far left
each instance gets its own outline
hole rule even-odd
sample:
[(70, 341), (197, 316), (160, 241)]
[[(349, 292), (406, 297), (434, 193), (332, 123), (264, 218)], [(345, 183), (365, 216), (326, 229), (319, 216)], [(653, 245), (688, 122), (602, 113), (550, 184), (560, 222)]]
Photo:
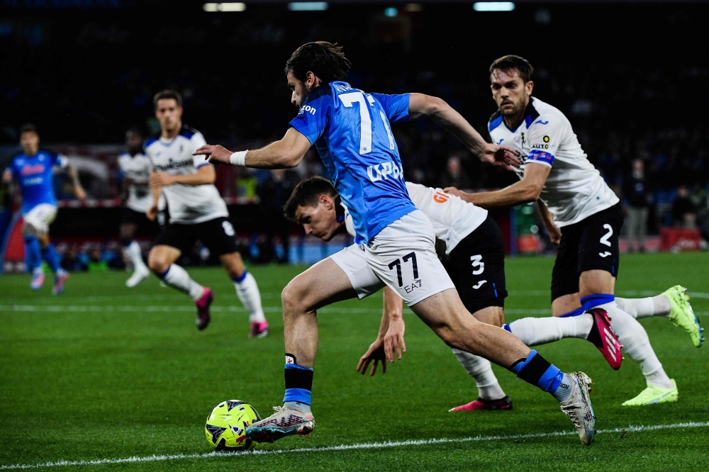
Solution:
[(22, 152), (13, 157), (3, 174), (3, 181), (9, 184), (13, 178), (22, 193), (22, 235), (28, 253), (29, 269), (32, 271), (30, 288), (39, 290), (45, 280), (42, 259), (49, 264), (54, 274), (52, 293), (64, 291), (64, 283), (69, 273), (59, 265), (59, 257), (49, 239), (49, 225), (57, 216), (57, 197), (54, 193), (54, 168), (60, 167), (72, 180), (74, 194), (79, 200), (86, 199), (86, 193), (79, 183), (76, 170), (67, 158), (55, 152), (40, 150), (40, 135), (35, 125), (20, 128)]

